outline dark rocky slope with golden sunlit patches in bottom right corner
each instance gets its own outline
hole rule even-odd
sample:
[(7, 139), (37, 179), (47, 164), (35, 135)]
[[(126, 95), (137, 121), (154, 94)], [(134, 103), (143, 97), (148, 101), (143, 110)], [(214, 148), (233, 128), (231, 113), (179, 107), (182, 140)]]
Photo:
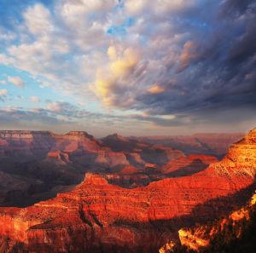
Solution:
[(249, 203), (229, 216), (178, 231), (179, 241), (169, 242), (160, 253), (255, 252), (256, 193)]

